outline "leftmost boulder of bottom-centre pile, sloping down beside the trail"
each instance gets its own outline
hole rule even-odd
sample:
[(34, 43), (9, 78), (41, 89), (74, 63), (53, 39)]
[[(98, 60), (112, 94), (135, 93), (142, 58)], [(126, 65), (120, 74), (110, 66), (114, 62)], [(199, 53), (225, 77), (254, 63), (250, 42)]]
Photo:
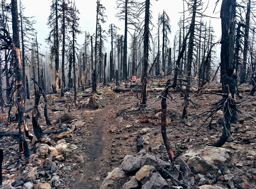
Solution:
[(115, 189), (127, 179), (121, 166), (115, 168), (101, 183), (100, 189)]

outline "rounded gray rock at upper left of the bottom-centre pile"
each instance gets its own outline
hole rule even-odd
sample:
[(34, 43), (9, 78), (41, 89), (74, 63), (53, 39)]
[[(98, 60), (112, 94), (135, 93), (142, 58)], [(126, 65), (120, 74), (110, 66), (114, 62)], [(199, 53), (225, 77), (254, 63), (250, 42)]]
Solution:
[(126, 155), (121, 164), (122, 169), (125, 172), (131, 172), (131, 171), (138, 170), (141, 168), (141, 161), (142, 161), (141, 157), (134, 157), (131, 155)]

